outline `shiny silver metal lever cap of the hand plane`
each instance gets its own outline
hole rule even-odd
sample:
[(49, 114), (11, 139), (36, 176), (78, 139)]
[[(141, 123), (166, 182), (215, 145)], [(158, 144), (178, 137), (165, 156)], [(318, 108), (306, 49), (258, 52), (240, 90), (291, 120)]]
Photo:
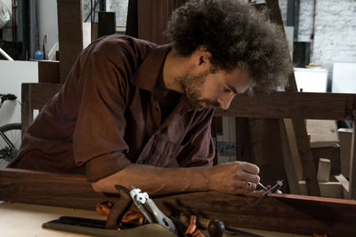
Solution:
[[(122, 186), (115, 186), (117, 189), (122, 190)], [(174, 224), (173, 220), (166, 217), (160, 209), (156, 206), (155, 202), (150, 199), (149, 194), (142, 192), (140, 188), (132, 186), (130, 191), (130, 196), (134, 201), (136, 207), (141, 211), (143, 217), (151, 224), (158, 224), (166, 227), (175, 235), (178, 235), (177, 226)]]

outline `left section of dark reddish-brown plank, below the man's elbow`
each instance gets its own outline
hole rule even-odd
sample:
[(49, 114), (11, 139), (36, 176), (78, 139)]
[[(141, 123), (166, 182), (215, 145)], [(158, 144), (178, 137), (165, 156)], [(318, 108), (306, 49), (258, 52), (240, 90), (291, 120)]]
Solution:
[(113, 201), (95, 193), (84, 176), (20, 169), (0, 169), (0, 200), (75, 209)]

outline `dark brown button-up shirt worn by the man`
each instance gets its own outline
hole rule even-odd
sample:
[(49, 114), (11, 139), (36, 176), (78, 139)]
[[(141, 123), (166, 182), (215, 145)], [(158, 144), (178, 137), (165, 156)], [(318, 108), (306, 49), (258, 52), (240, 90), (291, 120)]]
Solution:
[(11, 166), (85, 172), (96, 181), (133, 162), (212, 165), (212, 109), (189, 110), (185, 96), (174, 94), (167, 101), (176, 106), (165, 107), (172, 112), (161, 121), (157, 95), (172, 95), (158, 86), (169, 50), (120, 35), (93, 42), (29, 126)]

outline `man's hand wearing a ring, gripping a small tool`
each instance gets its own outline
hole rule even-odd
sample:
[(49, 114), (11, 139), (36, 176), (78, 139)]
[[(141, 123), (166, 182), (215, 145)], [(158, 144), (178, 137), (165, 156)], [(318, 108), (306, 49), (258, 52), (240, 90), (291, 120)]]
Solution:
[[(260, 181), (260, 169), (248, 162), (231, 162), (215, 165), (207, 171), (208, 186), (226, 194), (243, 194), (248, 196), (261, 196), (263, 190), (255, 188)], [(250, 186), (248, 185), (250, 183)], [(252, 185), (251, 185), (252, 184)]]

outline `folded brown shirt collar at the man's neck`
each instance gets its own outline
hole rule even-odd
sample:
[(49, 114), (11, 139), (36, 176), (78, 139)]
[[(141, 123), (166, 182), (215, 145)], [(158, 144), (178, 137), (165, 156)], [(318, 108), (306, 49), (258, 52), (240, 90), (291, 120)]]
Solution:
[(171, 44), (159, 45), (153, 48), (134, 73), (132, 83), (144, 90), (153, 91), (166, 55), (170, 50)]

